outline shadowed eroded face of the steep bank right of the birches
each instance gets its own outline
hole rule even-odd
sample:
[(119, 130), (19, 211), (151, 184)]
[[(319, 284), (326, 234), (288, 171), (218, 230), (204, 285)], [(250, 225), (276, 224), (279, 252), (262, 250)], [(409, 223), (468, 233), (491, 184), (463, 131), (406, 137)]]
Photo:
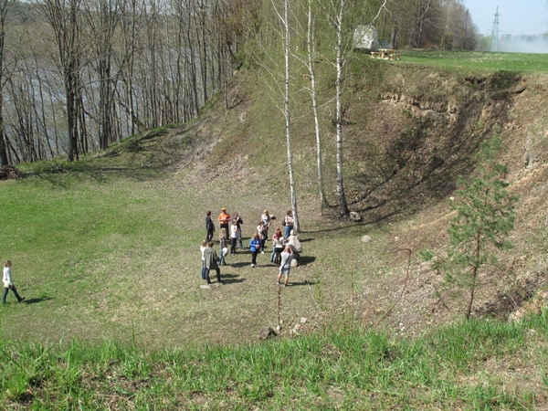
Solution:
[(354, 208), (376, 210), (367, 213), (376, 220), (447, 196), (458, 175), (474, 168), (479, 142), (511, 121), (526, 81), (399, 67), (374, 90), (374, 104), (354, 94), (347, 129)]

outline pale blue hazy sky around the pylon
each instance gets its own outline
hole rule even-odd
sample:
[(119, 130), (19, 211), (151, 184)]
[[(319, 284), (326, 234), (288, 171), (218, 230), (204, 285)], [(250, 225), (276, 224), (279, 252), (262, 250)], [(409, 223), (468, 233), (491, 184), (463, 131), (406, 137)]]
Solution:
[(464, 0), (479, 33), (490, 35), (499, 6), (501, 34), (517, 36), (548, 32), (546, 0)]

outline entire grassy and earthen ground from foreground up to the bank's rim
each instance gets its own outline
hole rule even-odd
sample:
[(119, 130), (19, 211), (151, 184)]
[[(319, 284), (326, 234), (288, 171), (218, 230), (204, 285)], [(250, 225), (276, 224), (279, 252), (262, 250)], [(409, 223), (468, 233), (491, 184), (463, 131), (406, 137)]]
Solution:
[[(250, 63), (228, 109), (219, 95), (187, 124), (18, 166), (24, 179), (0, 182), (0, 258), (26, 297), (0, 310), (5, 408), (542, 409), (545, 315), (506, 321), (546, 286), (548, 78), (476, 64), (484, 55), (459, 54), (457, 69), (453, 54), (410, 53), (349, 66), (344, 175), (361, 223), (334, 206), (331, 64), (318, 68), (331, 208), (318, 199), (308, 96), (295, 93), (303, 253), (283, 290), (269, 252), (253, 269), (247, 250), (227, 257), (225, 285), (199, 287), (205, 211), (242, 215), (248, 246), (263, 209), (279, 222), (290, 208), (283, 118)], [(447, 244), (448, 197), (494, 131), (520, 195), (514, 248), (462, 323), (464, 290), (417, 253)], [(279, 318), (279, 341), (257, 342)]]

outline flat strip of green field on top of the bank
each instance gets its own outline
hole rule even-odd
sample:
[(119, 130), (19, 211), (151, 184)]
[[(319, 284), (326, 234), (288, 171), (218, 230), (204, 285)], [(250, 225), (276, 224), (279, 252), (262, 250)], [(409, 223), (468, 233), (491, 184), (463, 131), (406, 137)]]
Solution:
[(469, 70), (476, 73), (512, 71), (515, 73), (548, 72), (546, 54), (491, 53), (479, 51), (403, 51), (406, 63), (434, 66), (449, 70)]

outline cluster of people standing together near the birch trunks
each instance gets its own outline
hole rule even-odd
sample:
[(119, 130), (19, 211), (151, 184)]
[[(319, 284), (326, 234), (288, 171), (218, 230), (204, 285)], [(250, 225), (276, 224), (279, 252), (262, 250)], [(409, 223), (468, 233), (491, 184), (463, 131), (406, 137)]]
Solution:
[[(260, 216), (257, 230), (249, 241), (249, 250), (251, 251), (251, 267), (255, 268), (257, 264), (257, 255), (265, 253), (265, 244), (269, 238), (269, 227), (275, 217), (269, 215), (269, 210), (264, 210)], [(222, 284), (220, 277), (219, 265), (227, 265), (225, 256), (227, 255), (227, 241), (230, 238), (230, 254), (236, 255), (237, 245), (239, 248), (245, 249), (242, 244), (242, 228), (244, 220), (237, 213), (231, 217), (227, 213), (227, 208), (221, 209), (221, 214), (217, 217), (220, 227), (219, 246), (220, 256), (217, 257), (216, 250), (213, 248), (213, 236), (215, 233), (215, 224), (211, 218), (211, 211), (205, 214), (205, 230), (206, 237), (202, 241), (200, 250), (202, 252), (202, 279), (211, 284), (209, 272), (212, 269), (216, 270), (217, 282)], [(282, 221), (282, 226), (285, 227), (285, 234), (282, 235), (281, 229), (276, 227), (272, 236), (272, 253), (270, 262), (276, 264), (279, 268), (278, 285), (287, 285), (290, 278), (291, 261), (295, 254), (300, 253), (299, 238), (293, 232), (294, 218), (291, 210), (288, 210)], [(281, 276), (285, 274), (285, 280), (280, 283)]]

